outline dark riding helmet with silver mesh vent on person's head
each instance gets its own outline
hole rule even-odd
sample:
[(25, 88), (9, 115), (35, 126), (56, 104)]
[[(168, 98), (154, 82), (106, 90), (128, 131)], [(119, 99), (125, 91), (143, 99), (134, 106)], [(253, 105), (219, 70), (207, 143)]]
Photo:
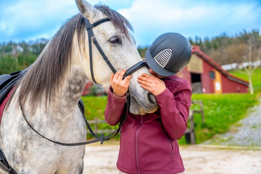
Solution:
[(191, 58), (191, 45), (179, 33), (164, 33), (147, 49), (148, 66), (161, 76), (172, 76), (181, 71)]

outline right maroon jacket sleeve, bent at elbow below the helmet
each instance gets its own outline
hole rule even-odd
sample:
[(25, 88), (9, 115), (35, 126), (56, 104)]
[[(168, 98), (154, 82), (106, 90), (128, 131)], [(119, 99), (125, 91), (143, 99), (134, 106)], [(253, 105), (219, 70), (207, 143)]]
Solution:
[(160, 106), (163, 126), (172, 140), (180, 139), (187, 128), (191, 105), (191, 88), (187, 81), (180, 84), (172, 93), (166, 88), (156, 96)]

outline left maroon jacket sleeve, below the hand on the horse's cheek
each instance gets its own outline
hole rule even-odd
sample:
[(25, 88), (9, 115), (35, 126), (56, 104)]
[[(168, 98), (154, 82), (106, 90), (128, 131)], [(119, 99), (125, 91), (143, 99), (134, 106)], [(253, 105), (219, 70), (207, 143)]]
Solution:
[(120, 117), (124, 112), (124, 104), (126, 101), (126, 95), (124, 97), (118, 97), (114, 95), (109, 89), (109, 93), (107, 96), (107, 104), (104, 111), (105, 121), (113, 126), (119, 123)]

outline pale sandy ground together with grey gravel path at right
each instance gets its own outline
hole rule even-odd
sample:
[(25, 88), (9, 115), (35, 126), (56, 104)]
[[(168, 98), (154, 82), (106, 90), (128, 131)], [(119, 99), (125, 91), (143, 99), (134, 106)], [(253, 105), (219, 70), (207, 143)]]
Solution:
[[(214, 143), (180, 146), (185, 174), (261, 174), (261, 104), (240, 123), (238, 131), (213, 138)], [(84, 174), (118, 174), (118, 150), (113, 140), (87, 145)]]

